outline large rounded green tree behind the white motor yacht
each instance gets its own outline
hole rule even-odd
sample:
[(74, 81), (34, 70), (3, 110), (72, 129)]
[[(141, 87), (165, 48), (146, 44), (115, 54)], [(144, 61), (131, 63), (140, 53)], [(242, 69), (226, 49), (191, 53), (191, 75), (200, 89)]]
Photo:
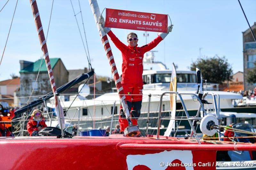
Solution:
[(222, 84), (225, 80), (232, 79), (233, 71), (225, 56), (197, 58), (195, 62), (192, 62), (190, 70), (195, 71), (196, 67), (201, 70), (203, 79), (207, 82)]

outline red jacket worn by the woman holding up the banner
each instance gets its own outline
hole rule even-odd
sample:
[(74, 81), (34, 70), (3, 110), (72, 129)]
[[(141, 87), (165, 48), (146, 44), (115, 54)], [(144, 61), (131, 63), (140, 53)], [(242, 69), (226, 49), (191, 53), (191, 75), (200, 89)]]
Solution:
[(143, 83), (142, 73), (143, 73), (143, 56), (144, 53), (152, 50), (159, 44), (163, 39), (157, 36), (152, 42), (144, 45), (142, 47), (126, 46), (122, 43), (112, 31), (108, 32), (110, 39), (116, 45), (116, 47), (122, 52), (122, 81), (121, 83), (132, 83), (138, 84)]

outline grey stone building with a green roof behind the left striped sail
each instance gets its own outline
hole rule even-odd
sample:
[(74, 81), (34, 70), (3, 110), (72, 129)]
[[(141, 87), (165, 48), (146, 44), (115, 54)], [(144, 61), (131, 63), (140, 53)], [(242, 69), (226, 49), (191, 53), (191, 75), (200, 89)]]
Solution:
[[(52, 72), (56, 88), (68, 82), (68, 70), (62, 63), (60, 58), (50, 58)], [(41, 64), (42, 63), (42, 64)], [(40, 68), (41, 64), (41, 68)], [(40, 68), (40, 72), (36, 81), (36, 77)], [(15, 96), (22, 97), (19, 99), (19, 105), (26, 104), (28, 97), (34, 88), (32, 96), (29, 101), (33, 101), (38, 96), (45, 95), (52, 91), (48, 71), (44, 60), (41, 59), (36, 62), (20, 61), (20, 90), (16, 91)]]

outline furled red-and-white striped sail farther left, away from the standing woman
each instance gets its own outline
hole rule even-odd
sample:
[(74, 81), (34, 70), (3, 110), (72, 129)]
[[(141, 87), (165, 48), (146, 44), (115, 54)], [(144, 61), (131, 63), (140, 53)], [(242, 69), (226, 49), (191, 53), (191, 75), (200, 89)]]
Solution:
[(35, 24), (36, 24), (36, 30), (37, 30), (38, 38), (39, 38), (39, 41), (40, 41), (40, 44), (41, 44), (41, 49), (44, 53), (44, 60), (45, 60), (48, 75), (49, 75), (49, 78), (50, 78), (50, 82), (51, 82), (51, 86), (52, 86), (52, 92), (54, 94), (55, 107), (56, 107), (56, 111), (57, 111), (59, 125), (62, 123), (62, 127), (65, 127), (64, 112), (63, 112), (63, 109), (61, 107), (60, 100), (56, 96), (57, 90), (56, 90), (56, 86), (55, 86), (55, 82), (54, 82), (51, 62), (50, 62), (50, 58), (49, 58), (49, 55), (48, 55), (46, 40), (45, 40), (45, 37), (44, 37), (43, 26), (42, 26), (41, 19), (40, 19), (40, 16), (39, 16), (39, 11), (38, 11), (38, 8), (37, 8), (36, 0), (29, 0), (29, 1), (30, 1), (32, 12), (33, 12), (33, 16), (34, 16), (34, 20), (35, 20)]

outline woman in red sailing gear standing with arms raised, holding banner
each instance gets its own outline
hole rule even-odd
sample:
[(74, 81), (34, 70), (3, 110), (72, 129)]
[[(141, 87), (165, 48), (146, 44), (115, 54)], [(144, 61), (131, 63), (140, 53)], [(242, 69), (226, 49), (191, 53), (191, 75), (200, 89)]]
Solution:
[[(137, 125), (137, 120), (140, 117), (140, 109), (142, 103), (142, 73), (143, 73), (143, 56), (146, 52), (152, 50), (160, 43), (169, 32), (172, 31), (172, 26), (168, 27), (167, 33), (158, 33), (158, 36), (150, 43), (138, 47), (138, 36), (135, 33), (127, 35), (127, 43), (122, 43), (116, 35), (108, 27), (104, 27), (105, 21), (101, 16), (99, 19), (100, 26), (108, 34), (116, 47), (122, 52), (122, 80), (121, 84), (124, 89), (125, 100), (131, 111), (131, 120), (133, 125)], [(124, 110), (120, 107), (119, 114), (120, 133), (129, 126), (126, 120)]]

